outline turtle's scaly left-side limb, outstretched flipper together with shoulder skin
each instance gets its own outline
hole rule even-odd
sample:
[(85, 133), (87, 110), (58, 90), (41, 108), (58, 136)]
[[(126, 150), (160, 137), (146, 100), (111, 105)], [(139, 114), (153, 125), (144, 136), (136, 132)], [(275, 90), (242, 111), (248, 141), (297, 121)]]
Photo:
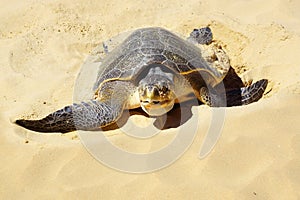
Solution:
[(122, 115), (131, 94), (129, 82), (107, 82), (99, 100), (66, 106), (39, 120), (17, 120), (16, 123), (38, 132), (66, 133), (75, 130), (95, 130), (114, 123)]

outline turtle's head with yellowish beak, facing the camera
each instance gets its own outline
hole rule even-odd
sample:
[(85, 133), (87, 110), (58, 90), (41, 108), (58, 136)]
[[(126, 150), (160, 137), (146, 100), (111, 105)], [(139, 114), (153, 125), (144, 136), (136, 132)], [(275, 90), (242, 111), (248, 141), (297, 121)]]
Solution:
[(173, 74), (163, 72), (160, 67), (151, 68), (139, 82), (139, 98), (142, 109), (150, 116), (169, 112), (175, 102)]

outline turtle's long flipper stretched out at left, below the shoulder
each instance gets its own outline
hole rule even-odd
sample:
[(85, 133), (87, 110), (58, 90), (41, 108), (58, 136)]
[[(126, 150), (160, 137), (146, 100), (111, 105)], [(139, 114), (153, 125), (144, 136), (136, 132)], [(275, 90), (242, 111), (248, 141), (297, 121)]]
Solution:
[(70, 132), (75, 130), (95, 130), (107, 126), (122, 114), (123, 105), (92, 100), (73, 104), (58, 110), (40, 120), (17, 120), (16, 123), (38, 132)]

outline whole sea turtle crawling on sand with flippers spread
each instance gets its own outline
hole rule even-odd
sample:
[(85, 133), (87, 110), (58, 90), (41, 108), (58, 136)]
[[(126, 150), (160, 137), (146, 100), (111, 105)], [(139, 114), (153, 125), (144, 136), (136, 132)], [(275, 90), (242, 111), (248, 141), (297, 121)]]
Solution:
[[(224, 51), (214, 48), (213, 56), (205, 57), (197, 47), (211, 42), (209, 27), (194, 29), (188, 40), (163, 28), (138, 29), (102, 60), (94, 99), (66, 106), (40, 120), (16, 123), (34, 131), (65, 133), (106, 127), (124, 109), (141, 107), (149, 116), (161, 116), (191, 94), (215, 107), (258, 101), (268, 81), (231, 87), (235, 79), (226, 78), (232, 69)], [(231, 83), (223, 84), (225, 79)]]

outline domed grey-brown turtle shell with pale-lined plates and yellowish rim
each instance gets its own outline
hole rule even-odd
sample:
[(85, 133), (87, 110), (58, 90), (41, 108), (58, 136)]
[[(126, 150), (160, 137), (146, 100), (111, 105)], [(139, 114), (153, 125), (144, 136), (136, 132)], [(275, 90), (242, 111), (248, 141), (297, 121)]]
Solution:
[(94, 90), (110, 80), (133, 80), (151, 64), (164, 65), (184, 76), (199, 72), (211, 86), (225, 76), (212, 68), (190, 42), (163, 28), (142, 28), (132, 32), (101, 61)]

